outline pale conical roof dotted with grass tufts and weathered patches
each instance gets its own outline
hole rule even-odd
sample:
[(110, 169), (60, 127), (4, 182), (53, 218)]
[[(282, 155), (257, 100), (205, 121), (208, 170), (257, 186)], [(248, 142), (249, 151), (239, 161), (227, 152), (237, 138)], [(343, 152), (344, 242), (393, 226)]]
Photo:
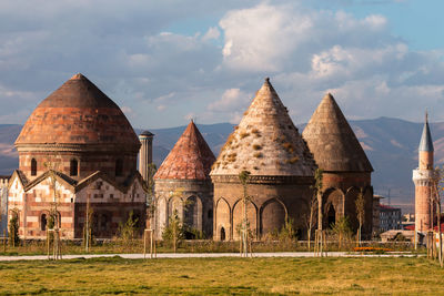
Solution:
[(269, 79), (229, 136), (212, 176), (313, 176), (316, 165)]

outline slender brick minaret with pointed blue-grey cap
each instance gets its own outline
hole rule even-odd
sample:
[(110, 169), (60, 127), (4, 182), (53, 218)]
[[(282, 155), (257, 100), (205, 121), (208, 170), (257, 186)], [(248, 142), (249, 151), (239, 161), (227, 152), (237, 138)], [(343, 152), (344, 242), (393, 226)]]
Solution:
[(433, 188), (433, 141), (428, 127), (428, 116), (425, 113), (425, 123), (418, 147), (420, 167), (413, 170), (415, 183), (415, 229), (426, 232), (433, 224), (433, 208), (431, 203)]

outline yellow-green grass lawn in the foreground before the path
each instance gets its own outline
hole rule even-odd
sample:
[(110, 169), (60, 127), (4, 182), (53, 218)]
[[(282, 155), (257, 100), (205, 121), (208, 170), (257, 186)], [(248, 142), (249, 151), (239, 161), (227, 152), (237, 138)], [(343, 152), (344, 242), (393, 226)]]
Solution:
[(438, 295), (426, 258), (97, 258), (0, 263), (0, 294)]

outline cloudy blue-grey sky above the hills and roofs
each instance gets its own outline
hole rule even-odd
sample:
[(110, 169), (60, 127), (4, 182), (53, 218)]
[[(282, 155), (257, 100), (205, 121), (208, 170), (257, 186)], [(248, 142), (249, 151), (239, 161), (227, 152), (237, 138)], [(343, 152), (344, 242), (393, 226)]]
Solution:
[(444, 121), (442, 0), (1, 0), (0, 123), (81, 72), (135, 127), (236, 123), (270, 76), (293, 121)]

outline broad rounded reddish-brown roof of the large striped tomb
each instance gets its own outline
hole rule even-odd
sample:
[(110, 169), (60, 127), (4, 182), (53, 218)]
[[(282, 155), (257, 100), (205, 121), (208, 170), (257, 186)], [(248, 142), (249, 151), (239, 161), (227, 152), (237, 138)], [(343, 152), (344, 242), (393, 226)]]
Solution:
[(73, 75), (36, 108), (16, 141), (16, 145), (29, 144), (140, 146), (120, 108), (82, 74)]

